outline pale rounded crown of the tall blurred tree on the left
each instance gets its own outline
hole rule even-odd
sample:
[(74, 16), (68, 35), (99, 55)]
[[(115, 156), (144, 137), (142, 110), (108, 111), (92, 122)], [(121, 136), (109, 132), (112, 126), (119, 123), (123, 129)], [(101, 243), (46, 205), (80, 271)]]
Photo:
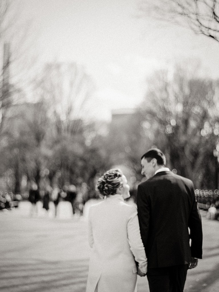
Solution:
[(36, 81), (37, 98), (46, 100), (57, 130), (66, 133), (79, 130), (93, 89), (93, 80), (75, 62), (49, 63)]

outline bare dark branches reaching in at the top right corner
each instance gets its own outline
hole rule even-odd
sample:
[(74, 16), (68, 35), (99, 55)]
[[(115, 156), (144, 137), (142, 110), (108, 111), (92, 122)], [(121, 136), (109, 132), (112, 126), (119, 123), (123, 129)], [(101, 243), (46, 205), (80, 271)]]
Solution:
[(219, 41), (218, 0), (141, 0), (138, 9), (144, 16), (189, 25), (197, 34)]

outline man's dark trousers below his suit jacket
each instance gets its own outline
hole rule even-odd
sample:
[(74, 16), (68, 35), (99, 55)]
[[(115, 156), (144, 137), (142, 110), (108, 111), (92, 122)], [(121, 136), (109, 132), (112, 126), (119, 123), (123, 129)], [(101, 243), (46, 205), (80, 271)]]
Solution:
[(150, 292), (183, 292), (189, 265), (148, 268)]

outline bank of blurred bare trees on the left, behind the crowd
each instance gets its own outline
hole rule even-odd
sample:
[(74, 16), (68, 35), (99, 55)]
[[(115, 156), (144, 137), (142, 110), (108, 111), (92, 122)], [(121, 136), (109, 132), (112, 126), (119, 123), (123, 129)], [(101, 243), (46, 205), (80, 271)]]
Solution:
[(93, 179), (107, 161), (91, 144), (97, 125), (80, 117), (92, 90), (79, 65), (53, 63), (35, 80), (36, 102), (14, 103), (19, 93), (11, 91), (1, 128), (1, 187), (22, 194), (31, 181), (39, 189), (85, 182), (94, 191)]

